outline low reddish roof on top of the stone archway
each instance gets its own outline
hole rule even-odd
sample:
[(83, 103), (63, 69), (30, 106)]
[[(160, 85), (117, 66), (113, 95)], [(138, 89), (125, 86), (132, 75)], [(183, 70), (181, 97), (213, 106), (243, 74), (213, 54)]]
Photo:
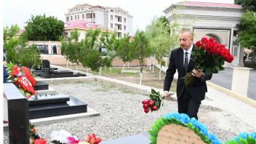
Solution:
[(223, 8), (235, 8), (235, 9), (241, 8), (241, 5), (238, 5), (238, 4), (224, 4), (224, 3), (199, 2), (199, 1), (183, 1), (173, 5), (194, 6), (194, 7), (223, 7)]

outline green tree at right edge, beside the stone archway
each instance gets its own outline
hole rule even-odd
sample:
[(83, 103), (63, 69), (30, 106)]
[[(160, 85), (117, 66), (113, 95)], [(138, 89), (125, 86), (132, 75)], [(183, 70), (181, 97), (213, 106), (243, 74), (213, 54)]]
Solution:
[(241, 16), (239, 27), (239, 42), (243, 47), (252, 49), (252, 62), (255, 62), (256, 54), (256, 16), (254, 12), (246, 12)]

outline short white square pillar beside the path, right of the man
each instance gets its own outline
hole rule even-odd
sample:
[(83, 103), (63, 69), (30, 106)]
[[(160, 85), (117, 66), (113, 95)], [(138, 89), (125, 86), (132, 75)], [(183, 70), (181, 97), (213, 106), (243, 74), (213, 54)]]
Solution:
[(232, 79), (232, 92), (236, 92), (240, 95), (247, 96), (247, 89), (249, 83), (249, 70), (252, 68), (233, 68), (233, 79)]

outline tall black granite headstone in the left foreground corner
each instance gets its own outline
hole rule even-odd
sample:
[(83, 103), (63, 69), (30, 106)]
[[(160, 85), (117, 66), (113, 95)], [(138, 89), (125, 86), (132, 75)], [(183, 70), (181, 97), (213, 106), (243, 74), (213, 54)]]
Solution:
[(7, 98), (9, 143), (29, 143), (28, 100), (20, 93), (15, 84), (4, 84)]

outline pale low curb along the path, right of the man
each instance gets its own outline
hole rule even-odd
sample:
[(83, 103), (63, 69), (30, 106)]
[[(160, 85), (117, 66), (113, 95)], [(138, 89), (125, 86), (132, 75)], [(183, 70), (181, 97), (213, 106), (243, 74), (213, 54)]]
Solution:
[(209, 81), (207, 81), (207, 86), (212, 87), (213, 89), (216, 89), (220, 92), (223, 92), (223, 93), (225, 93), (226, 95), (228, 95), (230, 97), (234, 97), (238, 100), (241, 100), (242, 102), (247, 103), (248, 105), (251, 105), (251, 106), (256, 108), (256, 100), (252, 100), (252, 99), (248, 98), (247, 96), (240, 95), (236, 92), (232, 92), (229, 89), (226, 89), (224, 87), (220, 87), (217, 84), (213, 84), (212, 82), (209, 82)]

